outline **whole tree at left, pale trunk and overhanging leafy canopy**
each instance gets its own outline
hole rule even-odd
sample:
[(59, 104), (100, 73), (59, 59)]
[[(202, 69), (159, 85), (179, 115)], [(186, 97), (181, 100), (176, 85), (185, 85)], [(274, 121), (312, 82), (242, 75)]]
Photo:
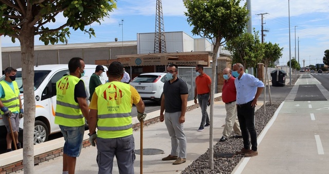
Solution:
[[(89, 34), (92, 28), (85, 29), (95, 21), (100, 24), (108, 12), (116, 8), (115, 0), (0, 0), (0, 34), (19, 39), (21, 44), (22, 79), (24, 89), (24, 173), (34, 173), (33, 132), (35, 119), (34, 78), (34, 36), (45, 45), (64, 42), (69, 37), (69, 28)], [(56, 20), (62, 17), (66, 20)], [(50, 23), (55, 23), (51, 24)], [(50, 28), (53, 27), (53, 28)], [(55, 26), (55, 27), (54, 27)]]

